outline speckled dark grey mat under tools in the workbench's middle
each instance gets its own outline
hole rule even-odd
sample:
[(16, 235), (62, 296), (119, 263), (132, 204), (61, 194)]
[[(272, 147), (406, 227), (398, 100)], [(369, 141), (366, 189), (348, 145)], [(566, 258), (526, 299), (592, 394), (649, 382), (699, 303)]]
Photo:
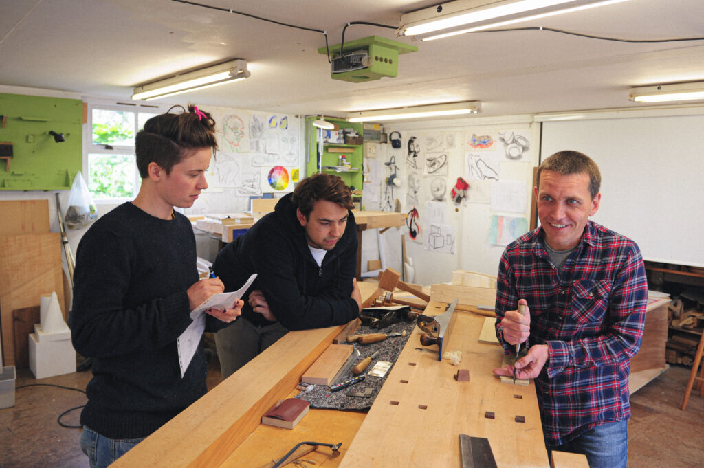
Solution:
[[(365, 379), (358, 384), (348, 386), (337, 392), (331, 392), (330, 388), (325, 385), (315, 385), (311, 391), (301, 391), (296, 395), (296, 398), (301, 398), (310, 403), (312, 408), (325, 408), (331, 410), (368, 410), (376, 396), (379, 394), (379, 390), (384, 385), (386, 377), (389, 377), (389, 372), (394, 368), (393, 363), (398, 359), (398, 355), (401, 354), (403, 346), (406, 346), (406, 341), (410, 337), (411, 332), (415, 328), (414, 322), (399, 322), (396, 324), (389, 325), (385, 329), (373, 329), (365, 325), (360, 325), (357, 331), (354, 332), (355, 335), (367, 334), (367, 333), (393, 333), (394, 331), (406, 330), (406, 336), (396, 336), (394, 338), (387, 338), (384, 341), (379, 341), (379, 343), (371, 343), (368, 345), (363, 345), (360, 343), (351, 343), (355, 350), (360, 352), (360, 357), (353, 363), (354, 367), (358, 362), (372, 355), (375, 351), (379, 351), (377, 357), (372, 359), (370, 365), (365, 369), (360, 375), (365, 375)], [(341, 343), (342, 344), (342, 343)], [(389, 361), (392, 363), (389, 370), (386, 371), (384, 377), (372, 377), (367, 375), (367, 373), (374, 367), (378, 361)], [(352, 374), (352, 368), (350, 368), (345, 375), (343, 375), (340, 381), (346, 381), (355, 377)], [(367, 388), (372, 388), (371, 398), (361, 398), (357, 396), (350, 396), (351, 393), (363, 393)]]

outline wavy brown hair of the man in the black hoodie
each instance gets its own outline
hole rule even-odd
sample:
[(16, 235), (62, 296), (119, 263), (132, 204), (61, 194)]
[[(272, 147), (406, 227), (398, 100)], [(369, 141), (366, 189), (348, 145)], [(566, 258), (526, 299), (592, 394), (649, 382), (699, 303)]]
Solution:
[(320, 173), (306, 177), (298, 182), (291, 196), (306, 220), (318, 200), (332, 201), (348, 210), (354, 208), (352, 191), (338, 175)]

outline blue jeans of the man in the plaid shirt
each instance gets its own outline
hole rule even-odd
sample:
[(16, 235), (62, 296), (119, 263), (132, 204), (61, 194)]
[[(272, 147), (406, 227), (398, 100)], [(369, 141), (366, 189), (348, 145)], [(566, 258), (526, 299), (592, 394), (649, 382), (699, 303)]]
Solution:
[(628, 460), (628, 421), (608, 422), (580, 434), (557, 447), (558, 452), (584, 453), (589, 468), (626, 468)]

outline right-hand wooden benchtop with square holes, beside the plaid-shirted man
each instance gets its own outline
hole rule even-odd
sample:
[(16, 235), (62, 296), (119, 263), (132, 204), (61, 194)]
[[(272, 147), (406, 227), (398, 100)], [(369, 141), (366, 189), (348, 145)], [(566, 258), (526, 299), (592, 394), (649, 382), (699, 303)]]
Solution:
[[(495, 294), (454, 288), (469, 305)], [(432, 291), (426, 315), (443, 313), (450, 302), (435, 301), (439, 290)], [(501, 366), (503, 349), (479, 343), (484, 317), (455, 309), (453, 319), (446, 349), (462, 352), (459, 367), (438, 362), (435, 346), (420, 346), (416, 328), (340, 468), (459, 466), (459, 434), (488, 438), (499, 467), (548, 467), (533, 382), (501, 384), (492, 370)], [(470, 381), (453, 378), (458, 368), (469, 369)]]

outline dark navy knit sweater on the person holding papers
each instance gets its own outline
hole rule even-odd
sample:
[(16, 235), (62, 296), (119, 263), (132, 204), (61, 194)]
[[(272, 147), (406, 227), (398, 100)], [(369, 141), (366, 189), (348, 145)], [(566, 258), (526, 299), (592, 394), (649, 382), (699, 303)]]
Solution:
[[(145, 437), (206, 393), (202, 341), (184, 377), (177, 352), (198, 280), (193, 229), (178, 213), (161, 220), (124, 203), (83, 236), (70, 325), (73, 346), (94, 362), (81, 424)], [(208, 331), (225, 326), (206, 317)]]

